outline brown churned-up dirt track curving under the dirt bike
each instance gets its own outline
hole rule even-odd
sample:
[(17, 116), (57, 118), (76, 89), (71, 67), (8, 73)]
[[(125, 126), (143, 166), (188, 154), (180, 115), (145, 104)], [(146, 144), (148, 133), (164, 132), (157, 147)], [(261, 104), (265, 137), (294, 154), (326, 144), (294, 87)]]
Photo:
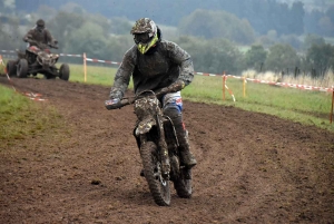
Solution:
[(0, 223), (334, 223), (333, 133), (186, 100), (194, 195), (159, 207), (139, 176), (132, 107), (106, 110), (106, 87), (13, 81), (68, 128), (0, 149)]

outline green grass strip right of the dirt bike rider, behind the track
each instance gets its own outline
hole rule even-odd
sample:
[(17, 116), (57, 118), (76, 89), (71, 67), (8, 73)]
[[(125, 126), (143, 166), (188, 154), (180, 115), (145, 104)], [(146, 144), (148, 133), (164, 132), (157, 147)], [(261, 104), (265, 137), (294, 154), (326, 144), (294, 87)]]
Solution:
[(183, 96), (196, 101), (234, 105), (245, 110), (271, 114), (334, 132), (334, 124), (330, 124), (332, 92), (248, 81), (245, 85), (244, 96), (240, 79), (228, 78), (226, 85), (233, 91), (236, 98), (235, 103), (228, 90), (225, 90), (225, 100), (223, 100), (223, 79), (220, 77), (195, 77), (191, 87), (187, 87)]

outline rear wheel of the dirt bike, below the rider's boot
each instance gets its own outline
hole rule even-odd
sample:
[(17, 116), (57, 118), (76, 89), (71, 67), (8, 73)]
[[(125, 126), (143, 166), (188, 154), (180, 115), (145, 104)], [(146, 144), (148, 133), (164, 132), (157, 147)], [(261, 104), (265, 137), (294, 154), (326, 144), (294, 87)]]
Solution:
[(180, 168), (179, 176), (174, 181), (174, 188), (179, 197), (190, 198), (193, 194), (191, 187), (191, 169)]

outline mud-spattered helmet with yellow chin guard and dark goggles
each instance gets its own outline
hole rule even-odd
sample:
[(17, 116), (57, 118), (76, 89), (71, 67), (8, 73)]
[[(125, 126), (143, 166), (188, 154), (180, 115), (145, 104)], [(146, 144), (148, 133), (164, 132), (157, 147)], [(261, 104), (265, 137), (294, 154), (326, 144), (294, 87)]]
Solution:
[(146, 53), (159, 40), (158, 28), (149, 18), (137, 20), (130, 33), (134, 35), (134, 40), (141, 53)]

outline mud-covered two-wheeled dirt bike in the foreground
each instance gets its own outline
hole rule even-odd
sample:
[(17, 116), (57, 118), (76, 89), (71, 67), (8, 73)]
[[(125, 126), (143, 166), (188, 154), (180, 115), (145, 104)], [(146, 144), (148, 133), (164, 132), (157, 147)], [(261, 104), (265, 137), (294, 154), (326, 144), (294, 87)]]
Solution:
[(163, 114), (161, 104), (151, 90), (143, 91), (132, 98), (120, 101), (105, 101), (107, 109), (117, 109), (134, 104), (137, 124), (134, 136), (140, 152), (144, 176), (157, 205), (170, 205), (170, 186), (179, 197), (189, 198), (191, 188), (191, 169), (181, 165), (178, 139), (171, 119)]

